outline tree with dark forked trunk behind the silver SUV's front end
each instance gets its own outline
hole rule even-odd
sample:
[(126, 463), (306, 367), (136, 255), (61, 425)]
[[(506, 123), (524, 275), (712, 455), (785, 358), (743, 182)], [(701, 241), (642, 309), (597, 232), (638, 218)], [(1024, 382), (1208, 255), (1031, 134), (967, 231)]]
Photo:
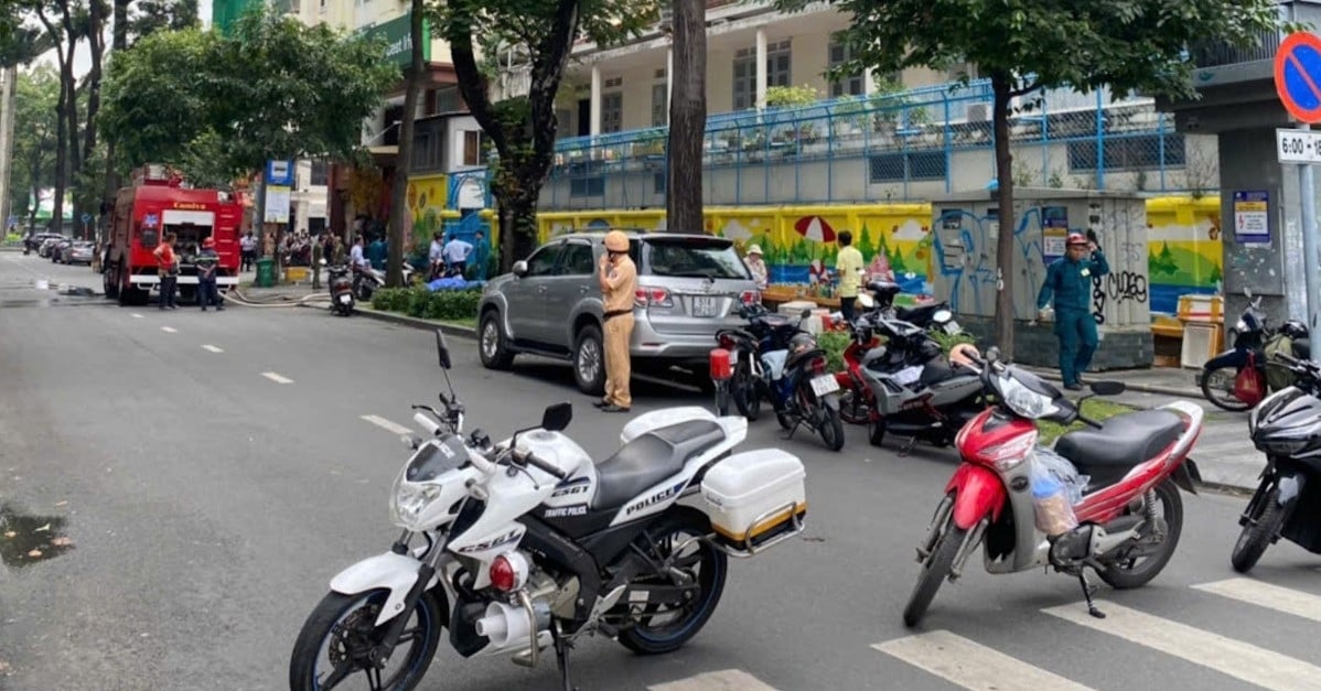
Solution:
[[(536, 202), (555, 148), (555, 96), (579, 37), (610, 45), (659, 18), (660, 0), (443, 0), (432, 22), (449, 42), (458, 89), (495, 148), (491, 193), (499, 206), (501, 266), (527, 256)], [(526, 96), (491, 100), (494, 61), (509, 52), (531, 70)], [(478, 62), (486, 55), (490, 62)]]

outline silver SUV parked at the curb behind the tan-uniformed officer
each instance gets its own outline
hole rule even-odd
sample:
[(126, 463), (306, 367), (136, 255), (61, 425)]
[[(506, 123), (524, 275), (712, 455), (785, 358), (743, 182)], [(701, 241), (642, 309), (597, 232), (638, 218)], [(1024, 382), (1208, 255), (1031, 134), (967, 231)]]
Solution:
[[(626, 233), (629, 256), (638, 267), (634, 371), (657, 374), (680, 366), (695, 375), (692, 383), (705, 387), (716, 332), (742, 324), (732, 314), (736, 305), (760, 300), (752, 273), (724, 238)], [(596, 271), (604, 239), (605, 230), (556, 236), (517, 262), (513, 273), (486, 284), (477, 312), (482, 365), (509, 369), (518, 353), (568, 359), (583, 392), (602, 392)]]

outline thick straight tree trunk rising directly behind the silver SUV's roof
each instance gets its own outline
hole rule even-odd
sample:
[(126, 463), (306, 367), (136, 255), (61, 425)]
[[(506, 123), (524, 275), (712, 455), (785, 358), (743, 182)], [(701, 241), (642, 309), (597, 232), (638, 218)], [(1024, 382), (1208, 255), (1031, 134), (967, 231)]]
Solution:
[(666, 229), (703, 233), (701, 141), (707, 129), (705, 0), (674, 0)]

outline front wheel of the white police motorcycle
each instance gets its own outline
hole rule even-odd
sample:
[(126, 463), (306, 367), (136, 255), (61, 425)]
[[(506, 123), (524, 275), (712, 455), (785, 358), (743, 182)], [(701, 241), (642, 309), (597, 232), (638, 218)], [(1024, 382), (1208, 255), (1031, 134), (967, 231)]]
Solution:
[[(410, 691), (421, 682), (436, 655), (445, 606), (433, 591), (423, 593), (408, 616), (390, 659), (370, 661), (391, 621), (374, 626), (388, 591), (328, 593), (299, 632), (289, 661), (289, 688), (328, 691), (370, 688)], [(388, 671), (394, 669), (394, 671)]]

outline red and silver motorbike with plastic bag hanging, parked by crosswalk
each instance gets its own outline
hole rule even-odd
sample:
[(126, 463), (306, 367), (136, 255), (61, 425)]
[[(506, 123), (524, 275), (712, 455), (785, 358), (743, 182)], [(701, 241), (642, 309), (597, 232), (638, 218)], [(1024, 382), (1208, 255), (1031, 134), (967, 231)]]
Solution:
[[(1165, 568), (1184, 527), (1178, 489), (1196, 494), (1193, 481), (1201, 480), (1188, 453), (1202, 432), (1202, 408), (1177, 400), (1098, 423), (1078, 407), (1091, 395), (1123, 392), (1122, 382), (1092, 383), (1090, 395), (1070, 402), (1050, 383), (999, 361), (995, 347), (984, 359), (971, 357), (964, 365), (980, 370), (996, 404), (955, 439), (963, 462), (918, 546), (922, 571), (904, 624), (922, 620), (941, 583), (958, 579), (982, 544), (991, 573), (1053, 567), (1077, 576), (1089, 613), (1104, 618), (1083, 569), (1123, 589), (1145, 585)], [(1033, 420), (1081, 420), (1091, 429), (1065, 433), (1052, 452), (1037, 445)], [(1040, 472), (1058, 464), (1081, 473), (1071, 478), (1086, 485), (1077, 501), (1058, 491), (1066, 489), (1058, 474)]]

